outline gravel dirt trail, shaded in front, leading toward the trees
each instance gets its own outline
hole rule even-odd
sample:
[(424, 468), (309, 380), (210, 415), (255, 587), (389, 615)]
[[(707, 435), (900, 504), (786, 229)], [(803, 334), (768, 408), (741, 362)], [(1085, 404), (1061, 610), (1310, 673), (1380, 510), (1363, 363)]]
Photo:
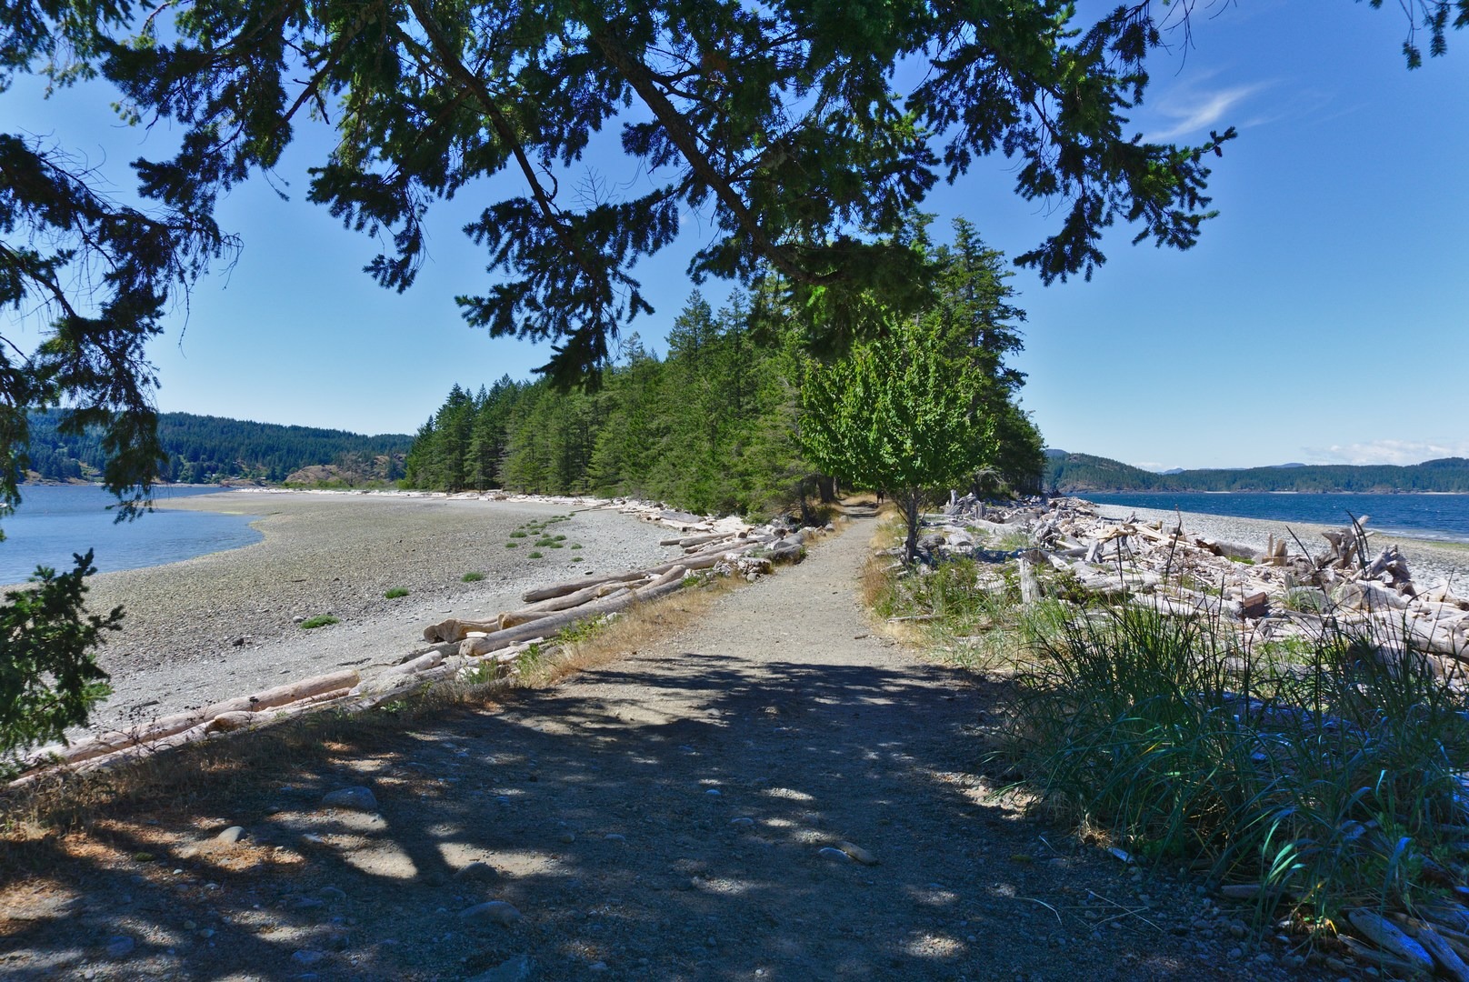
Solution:
[[(1235, 939), (1240, 914), (1194, 884), (989, 797), (971, 729), (993, 692), (871, 631), (871, 532), (853, 520), (649, 650), (342, 748), (228, 813), (16, 848), (60, 873), (0, 894), (0, 975), (1315, 978)], [(347, 785), (376, 813), (323, 807)], [(226, 825), (238, 844), (213, 841)], [(461, 916), (485, 901), (520, 916)]]

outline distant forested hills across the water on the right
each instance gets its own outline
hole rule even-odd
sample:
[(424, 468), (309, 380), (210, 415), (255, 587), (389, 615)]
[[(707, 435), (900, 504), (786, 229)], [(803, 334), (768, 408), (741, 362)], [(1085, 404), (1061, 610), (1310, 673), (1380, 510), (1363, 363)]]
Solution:
[(1084, 491), (1459, 491), (1469, 492), (1469, 459), (1444, 457), (1409, 466), (1310, 465), (1241, 470), (1153, 473), (1081, 453), (1047, 450), (1046, 487)]

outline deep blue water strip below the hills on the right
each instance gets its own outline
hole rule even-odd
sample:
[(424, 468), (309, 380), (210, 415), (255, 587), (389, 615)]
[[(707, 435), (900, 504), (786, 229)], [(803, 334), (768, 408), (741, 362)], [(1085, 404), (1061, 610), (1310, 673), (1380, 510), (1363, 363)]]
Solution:
[(1230, 515), (1272, 522), (1346, 525), (1350, 515), (1371, 516), (1371, 528), (1412, 538), (1469, 542), (1469, 494), (1185, 494), (1136, 491), (1083, 494), (1097, 504), (1134, 509), (1178, 507), (1203, 515)]

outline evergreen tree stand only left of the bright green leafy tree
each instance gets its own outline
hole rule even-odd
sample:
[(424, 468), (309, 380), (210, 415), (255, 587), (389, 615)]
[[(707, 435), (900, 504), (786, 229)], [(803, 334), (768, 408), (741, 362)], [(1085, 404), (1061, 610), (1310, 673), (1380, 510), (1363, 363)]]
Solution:
[(795, 356), (757, 345), (742, 303), (695, 294), (668, 356), (626, 340), (595, 393), (545, 379), (455, 385), (417, 434), (404, 485), (629, 494), (696, 512), (783, 507), (811, 476), (796, 445)]

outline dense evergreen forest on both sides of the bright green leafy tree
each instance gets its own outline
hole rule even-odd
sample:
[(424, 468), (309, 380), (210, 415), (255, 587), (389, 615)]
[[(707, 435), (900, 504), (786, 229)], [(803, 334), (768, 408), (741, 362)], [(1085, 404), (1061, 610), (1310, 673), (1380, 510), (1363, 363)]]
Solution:
[[(1040, 434), (1014, 400), (1022, 376), (1005, 365), (1024, 313), (1008, 303), (1002, 257), (964, 222), (955, 246), (931, 254), (940, 285), (920, 316), (958, 338), (964, 370), (989, 394), (971, 410), (993, 419), (981, 479), (1039, 490)], [(802, 448), (802, 381), (817, 363), (801, 325), (777, 290), (757, 287), (717, 313), (695, 293), (664, 357), (630, 335), (595, 388), (455, 385), (419, 429), (404, 485), (626, 494), (701, 513), (802, 506), (831, 485)]]

